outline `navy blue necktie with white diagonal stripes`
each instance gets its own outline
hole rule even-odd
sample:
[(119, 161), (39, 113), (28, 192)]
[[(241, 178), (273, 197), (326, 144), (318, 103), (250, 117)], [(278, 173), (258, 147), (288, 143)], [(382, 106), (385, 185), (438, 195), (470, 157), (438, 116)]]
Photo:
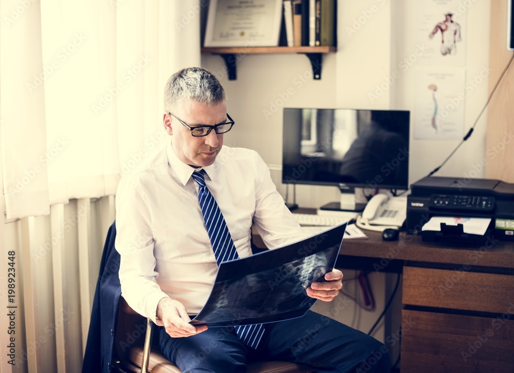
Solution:
[[(209, 234), (214, 257), (219, 266), (220, 263), (227, 260), (239, 259), (239, 256), (222, 212), (205, 185), (204, 173), (204, 170), (200, 170), (193, 172), (192, 176), (198, 183), (198, 202), (201, 213), (204, 215), (205, 227)], [(262, 324), (240, 325), (235, 327), (235, 332), (244, 344), (251, 348), (257, 348), (264, 334), (264, 326)]]

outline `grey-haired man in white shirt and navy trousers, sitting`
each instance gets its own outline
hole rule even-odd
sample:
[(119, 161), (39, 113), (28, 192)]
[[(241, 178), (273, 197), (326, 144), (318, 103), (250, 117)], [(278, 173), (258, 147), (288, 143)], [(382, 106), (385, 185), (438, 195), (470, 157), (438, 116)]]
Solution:
[[(222, 235), (234, 257), (251, 254), (252, 220), (271, 248), (305, 234), (260, 156), (223, 146), (234, 122), (214, 75), (201, 68), (178, 71), (167, 83), (164, 107), (171, 144), (125, 176), (116, 197), (121, 291), (131, 307), (162, 326), (156, 336), (162, 353), (183, 372), (245, 372), (257, 357), (305, 362), (320, 373), (363, 366), (389, 371), (378, 341), (315, 312), (249, 329), (188, 324), (207, 301), (219, 261), (218, 236), (200, 195), (210, 193), (210, 206), (221, 211), (216, 224), (228, 228)], [(307, 294), (331, 301), (341, 279), (334, 269)]]

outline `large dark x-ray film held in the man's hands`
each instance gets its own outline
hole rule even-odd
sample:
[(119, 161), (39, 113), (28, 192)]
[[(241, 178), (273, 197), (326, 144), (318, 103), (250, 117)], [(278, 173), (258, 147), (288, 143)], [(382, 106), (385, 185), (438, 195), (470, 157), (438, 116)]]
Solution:
[(316, 302), (306, 289), (333, 270), (346, 224), (221, 263), (207, 303), (190, 323), (234, 326), (302, 317)]

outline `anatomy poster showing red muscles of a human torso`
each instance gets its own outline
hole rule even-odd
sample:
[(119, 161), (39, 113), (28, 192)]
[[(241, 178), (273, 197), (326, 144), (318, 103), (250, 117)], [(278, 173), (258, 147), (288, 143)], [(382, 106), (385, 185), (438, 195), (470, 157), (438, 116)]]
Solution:
[[(425, 47), (425, 65), (466, 64), (467, 10), (462, 0), (418, 0), (416, 43)], [(479, 26), (480, 27), (480, 26)]]

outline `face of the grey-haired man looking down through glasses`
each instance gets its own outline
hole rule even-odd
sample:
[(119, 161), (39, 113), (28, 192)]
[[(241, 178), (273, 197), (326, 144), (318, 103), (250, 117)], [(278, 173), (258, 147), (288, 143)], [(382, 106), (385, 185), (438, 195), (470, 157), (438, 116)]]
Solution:
[[(190, 127), (214, 126), (227, 122), (227, 103), (210, 106), (188, 99), (173, 114)], [(207, 136), (195, 138), (189, 128), (168, 113), (164, 114), (164, 128), (178, 159), (193, 167), (212, 165), (223, 145), (223, 134), (211, 130)]]

